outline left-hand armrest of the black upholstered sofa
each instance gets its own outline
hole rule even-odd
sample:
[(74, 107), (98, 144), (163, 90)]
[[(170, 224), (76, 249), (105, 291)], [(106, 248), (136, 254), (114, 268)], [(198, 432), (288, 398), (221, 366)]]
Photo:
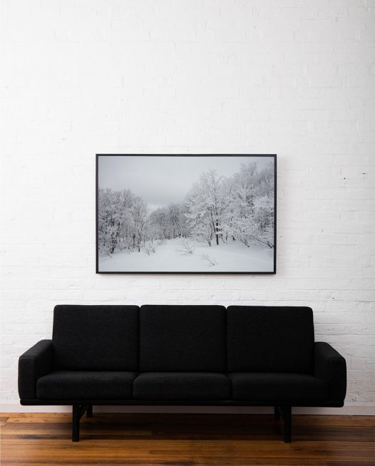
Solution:
[(36, 380), (52, 371), (52, 341), (41, 340), (19, 357), (19, 398), (36, 398)]

